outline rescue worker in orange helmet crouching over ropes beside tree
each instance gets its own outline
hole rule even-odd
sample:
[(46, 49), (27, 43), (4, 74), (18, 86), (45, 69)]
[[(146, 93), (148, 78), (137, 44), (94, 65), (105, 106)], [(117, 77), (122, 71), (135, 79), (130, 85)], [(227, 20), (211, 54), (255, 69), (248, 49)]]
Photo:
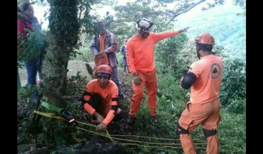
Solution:
[(82, 106), (92, 115), (91, 122), (99, 123), (99, 130), (106, 130), (111, 121), (121, 119), (118, 87), (110, 80), (112, 70), (109, 65), (97, 67), (97, 79), (87, 84), (82, 97)]

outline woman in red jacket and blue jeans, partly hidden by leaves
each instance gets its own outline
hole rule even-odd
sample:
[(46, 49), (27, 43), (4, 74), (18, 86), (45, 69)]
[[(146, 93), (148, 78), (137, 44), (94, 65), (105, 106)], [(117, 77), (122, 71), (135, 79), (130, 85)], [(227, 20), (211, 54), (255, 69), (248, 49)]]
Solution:
[[(26, 37), (28, 32), (25, 29), (33, 31), (34, 23), (37, 24), (37, 28), (40, 28), (40, 24), (37, 18), (34, 16), (33, 5), (29, 2), (23, 2), (17, 7), (17, 39), (21, 36)], [(21, 47), (23, 48), (23, 47)], [(23, 51), (18, 51), (23, 52)], [(40, 78), (40, 59), (24, 60), (27, 70), (28, 86), (31, 87), (37, 84), (37, 72)]]

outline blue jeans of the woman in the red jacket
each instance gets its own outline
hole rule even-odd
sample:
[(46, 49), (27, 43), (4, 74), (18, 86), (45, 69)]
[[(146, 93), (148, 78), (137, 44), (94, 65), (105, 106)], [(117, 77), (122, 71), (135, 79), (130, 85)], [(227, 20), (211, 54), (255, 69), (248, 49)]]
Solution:
[[(37, 85), (37, 72), (39, 74), (39, 79), (40, 79), (40, 73), (41, 73), (40, 60), (34, 59), (28, 62), (24, 60), (24, 63), (28, 74), (28, 86), (29, 89), (31, 90), (32, 86)], [(32, 97), (35, 97), (37, 95), (38, 95), (38, 91), (36, 92), (36, 94), (33, 94)]]

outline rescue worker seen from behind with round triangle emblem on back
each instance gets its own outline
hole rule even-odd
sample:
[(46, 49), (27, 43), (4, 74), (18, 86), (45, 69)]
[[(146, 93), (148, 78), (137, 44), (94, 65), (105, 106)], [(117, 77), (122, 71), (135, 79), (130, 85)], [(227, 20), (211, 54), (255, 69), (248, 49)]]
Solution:
[(202, 33), (195, 39), (197, 57), (188, 72), (181, 79), (184, 89), (191, 87), (190, 101), (186, 105), (176, 132), (185, 154), (195, 154), (192, 136), (189, 131), (201, 124), (207, 137), (207, 154), (218, 154), (219, 140), (216, 128), (220, 122), (220, 102), (218, 93), (221, 85), (223, 61), (212, 55), (214, 37)]

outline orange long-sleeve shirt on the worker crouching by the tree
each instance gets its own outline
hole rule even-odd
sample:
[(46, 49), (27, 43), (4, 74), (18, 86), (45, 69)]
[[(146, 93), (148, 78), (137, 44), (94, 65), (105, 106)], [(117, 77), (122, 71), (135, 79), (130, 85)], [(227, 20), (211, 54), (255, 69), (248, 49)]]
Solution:
[[(118, 109), (118, 87), (112, 81), (109, 80), (109, 85), (106, 88), (101, 88), (98, 83), (98, 79), (94, 79), (87, 84), (86, 95), (84, 95), (84, 100), (89, 102), (91, 95), (98, 93), (102, 97), (102, 104), (111, 103), (111, 110), (107, 113), (106, 118), (102, 123), (108, 125), (111, 120), (113, 120), (115, 113)], [(88, 103), (84, 104), (84, 109), (90, 114), (94, 114), (95, 109)]]

